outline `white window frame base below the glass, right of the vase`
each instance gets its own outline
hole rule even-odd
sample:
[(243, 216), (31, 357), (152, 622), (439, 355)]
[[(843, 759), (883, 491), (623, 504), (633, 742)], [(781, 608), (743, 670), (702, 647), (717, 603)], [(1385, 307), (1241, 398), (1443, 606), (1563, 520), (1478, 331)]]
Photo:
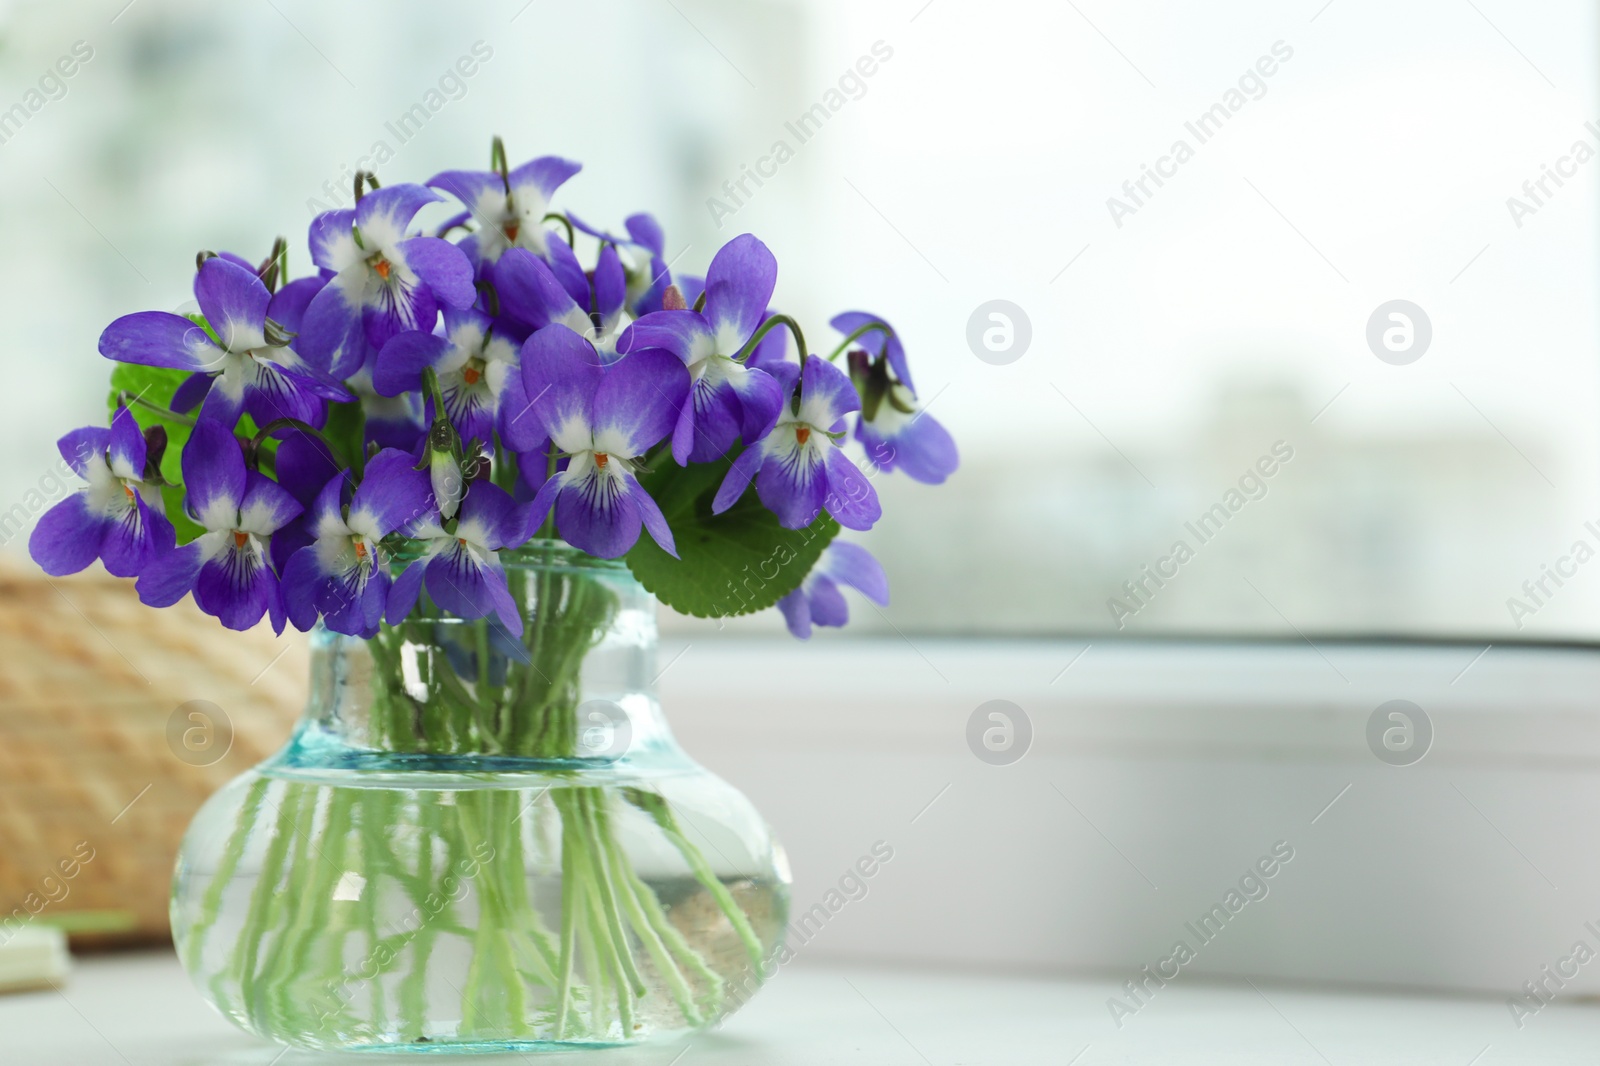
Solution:
[[(1062, 672), (1083, 647), (701, 640), (659, 687), (787, 844), (795, 914), (894, 848), (821, 959), (1131, 975), (1278, 840), (1186, 973), (1504, 996), (1600, 949), (1600, 651), (1096, 642)], [(1408, 767), (1366, 744), (1397, 698), (1435, 730)], [(966, 746), (989, 699), (1032, 720), (1013, 765)], [(1597, 992), (1587, 967), (1562, 994)]]

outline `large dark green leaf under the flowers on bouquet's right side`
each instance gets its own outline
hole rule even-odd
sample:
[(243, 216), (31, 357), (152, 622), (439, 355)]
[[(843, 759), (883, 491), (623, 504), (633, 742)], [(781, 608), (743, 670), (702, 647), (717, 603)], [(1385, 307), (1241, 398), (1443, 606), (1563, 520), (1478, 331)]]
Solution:
[(733, 507), (714, 515), (710, 501), (728, 474), (731, 455), (688, 467), (672, 463), (672, 456), (661, 459), (662, 467), (640, 477), (640, 483), (661, 504), (680, 559), (661, 551), (648, 533), (626, 559), (638, 583), (675, 611), (728, 618), (773, 607), (800, 587), (838, 535), (838, 523), (827, 514), (803, 530), (786, 530), (757, 499), (754, 487)]

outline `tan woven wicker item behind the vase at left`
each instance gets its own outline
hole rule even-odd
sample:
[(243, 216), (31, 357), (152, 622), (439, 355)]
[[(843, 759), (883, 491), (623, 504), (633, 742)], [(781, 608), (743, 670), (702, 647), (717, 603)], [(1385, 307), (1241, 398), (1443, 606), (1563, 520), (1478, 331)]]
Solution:
[(0, 936), (6, 919), (77, 919), (122, 927), (77, 948), (165, 940), (189, 820), (283, 744), (306, 675), (293, 631), (154, 610), (102, 571), (0, 565)]

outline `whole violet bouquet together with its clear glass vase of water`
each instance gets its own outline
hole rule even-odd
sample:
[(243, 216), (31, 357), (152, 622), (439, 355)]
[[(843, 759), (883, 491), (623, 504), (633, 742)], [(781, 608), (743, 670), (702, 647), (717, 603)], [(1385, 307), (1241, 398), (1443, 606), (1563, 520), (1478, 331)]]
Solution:
[[(813, 354), (755, 237), (675, 277), (650, 214), (552, 210), (578, 163), (490, 158), (360, 173), (304, 277), (283, 238), (203, 251), (195, 314), (112, 322), (110, 423), (61, 439), (85, 485), (30, 539), (51, 575), (315, 631), (306, 719), (200, 812), (173, 892), (205, 994), (283, 1042), (610, 1044), (738, 1007), (787, 868), (650, 725), (648, 594), (842, 626), (843, 587), (888, 602), (835, 539), (878, 520), (874, 475), (957, 467), (882, 317)], [(595, 757), (590, 696), (637, 751)]]

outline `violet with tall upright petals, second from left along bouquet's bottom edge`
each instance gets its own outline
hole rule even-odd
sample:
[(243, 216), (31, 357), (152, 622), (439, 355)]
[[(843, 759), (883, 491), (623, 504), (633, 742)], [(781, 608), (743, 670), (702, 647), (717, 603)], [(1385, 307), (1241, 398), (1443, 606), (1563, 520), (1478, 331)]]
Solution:
[(230, 429), (202, 421), (182, 456), (184, 493), (198, 539), (157, 555), (134, 586), (150, 607), (195, 603), (229, 629), (250, 629), (262, 613), (283, 632), (283, 592), (267, 562), (267, 539), (301, 512), (282, 485), (245, 467)]

